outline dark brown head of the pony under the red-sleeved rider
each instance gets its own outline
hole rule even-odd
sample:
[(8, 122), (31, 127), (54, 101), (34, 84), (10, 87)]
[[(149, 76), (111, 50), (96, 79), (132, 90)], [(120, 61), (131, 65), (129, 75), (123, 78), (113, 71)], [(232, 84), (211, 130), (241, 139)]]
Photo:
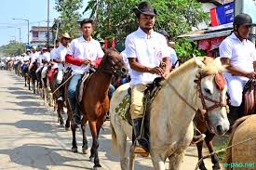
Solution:
[(115, 74), (117, 76), (126, 73), (128, 70), (125, 67), (122, 56), (115, 49), (106, 49), (105, 55), (99, 67), (101, 72)]

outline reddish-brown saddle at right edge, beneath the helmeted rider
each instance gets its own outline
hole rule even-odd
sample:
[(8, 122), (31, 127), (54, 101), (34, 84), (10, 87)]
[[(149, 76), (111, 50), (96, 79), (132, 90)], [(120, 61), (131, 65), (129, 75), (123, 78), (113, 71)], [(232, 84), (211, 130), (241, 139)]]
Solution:
[(256, 111), (256, 79), (250, 79), (243, 90), (244, 114), (253, 114)]

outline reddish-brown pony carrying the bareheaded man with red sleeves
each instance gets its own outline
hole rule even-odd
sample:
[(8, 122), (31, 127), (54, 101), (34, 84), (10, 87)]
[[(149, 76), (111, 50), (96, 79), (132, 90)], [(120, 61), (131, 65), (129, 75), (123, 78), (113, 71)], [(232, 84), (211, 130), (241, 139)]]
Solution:
[[(83, 131), (83, 153), (87, 153), (88, 140), (86, 137), (86, 124), (88, 122), (91, 136), (93, 139), (90, 150), (90, 161), (94, 160), (94, 168), (101, 167), (98, 156), (99, 141), (101, 125), (106, 119), (106, 113), (109, 111), (108, 89), (111, 83), (112, 76), (116, 73), (126, 72), (125, 64), (122, 57), (115, 49), (107, 49), (105, 55), (101, 60), (101, 64), (96, 72), (92, 73), (88, 78), (84, 87), (84, 94), (80, 103)], [(70, 106), (67, 104), (68, 113), (70, 114)], [(72, 151), (77, 152), (77, 145), (75, 139), (74, 121), (72, 124), (73, 147)]]

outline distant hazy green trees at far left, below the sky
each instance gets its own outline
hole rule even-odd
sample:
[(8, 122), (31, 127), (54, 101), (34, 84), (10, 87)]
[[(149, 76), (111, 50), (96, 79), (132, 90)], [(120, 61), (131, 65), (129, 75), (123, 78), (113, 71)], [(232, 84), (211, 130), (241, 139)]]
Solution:
[(25, 52), (25, 44), (10, 41), (8, 45), (0, 46), (0, 52), (5, 56), (17, 56)]

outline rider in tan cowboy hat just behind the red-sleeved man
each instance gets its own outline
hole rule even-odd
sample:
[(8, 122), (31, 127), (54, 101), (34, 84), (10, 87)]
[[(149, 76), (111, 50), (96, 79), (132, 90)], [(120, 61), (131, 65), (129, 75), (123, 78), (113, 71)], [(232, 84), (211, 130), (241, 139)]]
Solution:
[[(68, 44), (71, 40), (71, 37), (68, 33), (61, 34), (61, 45), (56, 49), (55, 56), (53, 57), (53, 61), (58, 63), (58, 74), (56, 79), (56, 87), (58, 88), (61, 85), (62, 78), (63, 78), (63, 70), (64, 70), (64, 64), (65, 64), (65, 56), (68, 52)], [(59, 90), (59, 97), (57, 100), (62, 100), (63, 96), (63, 88), (60, 87)]]

